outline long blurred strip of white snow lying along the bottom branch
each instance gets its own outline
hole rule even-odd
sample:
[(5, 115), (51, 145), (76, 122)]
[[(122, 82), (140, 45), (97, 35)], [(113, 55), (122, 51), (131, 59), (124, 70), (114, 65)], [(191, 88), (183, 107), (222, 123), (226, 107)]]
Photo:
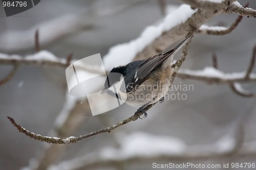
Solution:
[(88, 153), (73, 160), (62, 161), (59, 164), (52, 165), (49, 169), (79, 169), (98, 161), (122, 161), (136, 157), (215, 155), (230, 152), (236, 145), (236, 140), (231, 135), (225, 135), (213, 144), (191, 147), (188, 147), (179, 138), (153, 135), (145, 132), (135, 132), (130, 135), (122, 134), (118, 135), (118, 137), (119, 149), (105, 147), (99, 149), (99, 153)]

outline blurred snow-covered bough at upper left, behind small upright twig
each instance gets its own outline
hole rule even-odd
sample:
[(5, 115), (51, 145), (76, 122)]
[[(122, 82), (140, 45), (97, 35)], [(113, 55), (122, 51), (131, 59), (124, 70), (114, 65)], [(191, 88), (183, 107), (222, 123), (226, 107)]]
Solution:
[(38, 28), (39, 43), (44, 45), (57, 38), (79, 31), (88, 25), (90, 25), (90, 21), (81, 19), (80, 15), (66, 14), (50, 21), (41, 22), (29, 30), (8, 30), (4, 32), (0, 37), (0, 49), (11, 51), (33, 47), (35, 31)]

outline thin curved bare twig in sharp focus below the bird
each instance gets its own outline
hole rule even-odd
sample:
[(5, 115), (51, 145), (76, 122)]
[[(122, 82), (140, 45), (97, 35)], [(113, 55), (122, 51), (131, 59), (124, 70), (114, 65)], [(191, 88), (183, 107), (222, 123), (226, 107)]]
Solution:
[[(151, 105), (148, 105), (144, 111), (147, 111), (149, 109), (151, 109), (155, 104), (151, 104)], [(105, 129), (100, 129), (98, 131), (95, 131), (95, 132), (92, 132), (92, 133), (89, 133), (89, 134), (86, 134), (86, 135), (81, 135), (79, 137), (74, 137), (74, 136), (70, 136), (66, 139), (61, 139), (61, 138), (58, 138), (58, 137), (48, 137), (48, 136), (41, 136), (39, 134), (35, 134), (33, 132), (29, 132), (28, 130), (26, 130), (25, 128), (23, 128), (22, 126), (18, 125), (15, 123), (14, 119), (12, 117), (8, 117), (8, 119), (10, 120), (10, 122), (13, 124), (13, 126), (15, 126), (19, 132), (22, 132), (24, 133), (26, 136), (29, 136), (33, 139), (36, 139), (36, 140), (40, 140), (40, 141), (45, 141), (47, 143), (56, 143), (56, 144), (66, 144), (66, 143), (75, 143), (79, 140), (82, 140), (82, 139), (86, 139), (86, 138), (89, 138), (89, 137), (92, 137), (92, 136), (95, 136), (95, 135), (98, 135), (98, 134), (101, 134), (101, 133), (105, 133), (105, 132), (111, 132), (113, 131), (114, 129), (120, 127), (120, 126), (123, 126), (127, 123), (130, 123), (132, 121), (135, 121), (137, 120), (143, 113), (142, 112), (136, 112), (133, 116), (129, 117), (129, 118), (126, 118), (124, 119), (122, 122), (119, 122), (113, 126), (110, 126), (108, 128), (105, 128)]]

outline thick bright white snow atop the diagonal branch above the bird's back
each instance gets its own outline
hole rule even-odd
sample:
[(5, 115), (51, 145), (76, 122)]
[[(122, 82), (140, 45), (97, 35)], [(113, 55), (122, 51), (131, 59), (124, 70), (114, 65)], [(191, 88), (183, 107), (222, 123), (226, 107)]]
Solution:
[(196, 11), (192, 10), (188, 5), (181, 5), (177, 10), (167, 15), (159, 25), (147, 27), (137, 39), (111, 47), (109, 53), (103, 57), (105, 69), (110, 70), (114, 66), (131, 62), (136, 54), (141, 52), (163, 32), (184, 22)]

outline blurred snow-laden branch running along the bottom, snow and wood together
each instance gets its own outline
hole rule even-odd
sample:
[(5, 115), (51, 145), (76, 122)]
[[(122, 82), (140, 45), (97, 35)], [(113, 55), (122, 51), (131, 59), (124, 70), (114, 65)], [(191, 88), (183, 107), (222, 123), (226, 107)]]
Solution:
[[(236, 133), (236, 132), (234, 132)], [(150, 142), (148, 142), (150, 141)], [(152, 135), (144, 132), (125, 134), (120, 137), (120, 148), (102, 148), (99, 153), (85, 154), (82, 157), (62, 161), (50, 170), (95, 169), (115, 167), (120, 164), (169, 160), (223, 159), (230, 155), (244, 156), (255, 154), (255, 142), (240, 143), (240, 139), (227, 134), (214, 143), (203, 146), (187, 146), (175, 137)], [(118, 167), (118, 166), (117, 166)]]

